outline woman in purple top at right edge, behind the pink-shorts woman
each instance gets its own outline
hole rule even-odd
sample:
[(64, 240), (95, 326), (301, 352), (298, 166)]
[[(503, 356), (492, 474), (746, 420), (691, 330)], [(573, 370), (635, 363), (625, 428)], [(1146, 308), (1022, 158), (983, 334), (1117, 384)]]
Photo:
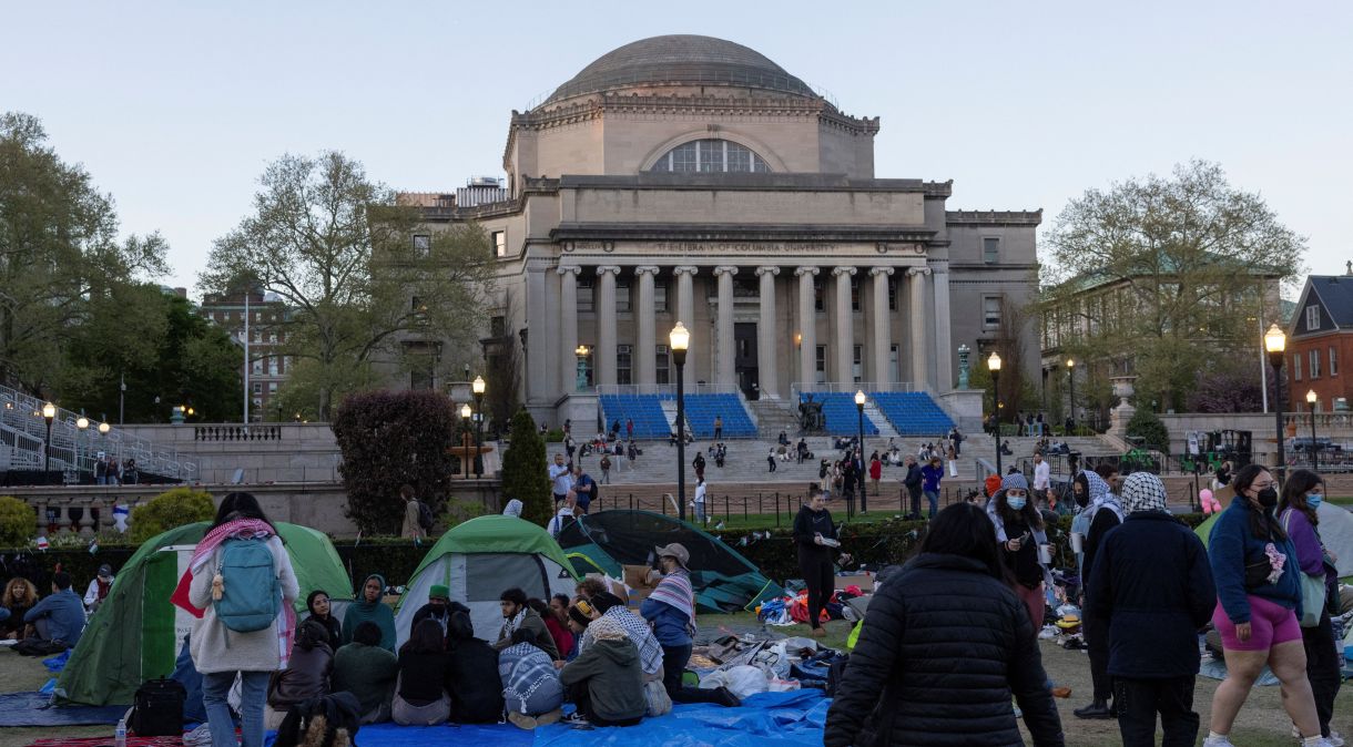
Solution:
[[(1334, 625), (1330, 621), (1330, 605), (1326, 599), (1337, 598), (1339, 579), (1334, 563), (1338, 560), (1321, 541), (1321, 518), (1318, 509), (1325, 502), (1325, 480), (1321, 475), (1310, 470), (1296, 470), (1287, 478), (1283, 486), (1283, 495), (1279, 499), (1279, 524), (1292, 537), (1292, 547), (1296, 548), (1298, 564), (1302, 572), (1311, 579), (1302, 585), (1302, 606), (1310, 608), (1314, 601), (1307, 599), (1307, 591), (1314, 594), (1314, 587), (1319, 585), (1321, 614), (1315, 620), (1302, 620), (1302, 644), (1306, 648), (1306, 678), (1311, 682), (1311, 693), (1315, 698), (1315, 713), (1321, 720), (1321, 733), (1335, 742), (1337, 732), (1330, 731), (1330, 719), (1334, 716), (1334, 697), (1339, 693), (1339, 662), (1334, 648)], [(1342, 643), (1339, 644), (1342, 646)], [(1342, 739), (1341, 739), (1342, 742)]]

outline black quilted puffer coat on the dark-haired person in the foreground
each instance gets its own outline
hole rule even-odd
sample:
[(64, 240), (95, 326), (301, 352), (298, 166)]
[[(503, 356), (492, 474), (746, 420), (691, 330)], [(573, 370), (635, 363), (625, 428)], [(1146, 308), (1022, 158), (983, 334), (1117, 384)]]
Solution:
[(977, 560), (920, 555), (893, 574), (827, 712), (827, 747), (1023, 744), (1011, 694), (1039, 747), (1062, 724), (1024, 604)]

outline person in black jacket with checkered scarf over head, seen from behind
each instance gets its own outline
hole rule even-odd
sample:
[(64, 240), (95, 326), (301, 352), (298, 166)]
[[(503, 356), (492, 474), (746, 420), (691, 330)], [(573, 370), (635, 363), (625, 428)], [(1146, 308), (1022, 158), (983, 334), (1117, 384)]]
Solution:
[(1108, 631), (1118, 728), (1124, 747), (1150, 747), (1160, 715), (1164, 747), (1192, 746), (1197, 631), (1216, 605), (1212, 568), (1197, 535), (1166, 512), (1160, 478), (1128, 475), (1123, 507), (1127, 518), (1095, 559), (1085, 610)]

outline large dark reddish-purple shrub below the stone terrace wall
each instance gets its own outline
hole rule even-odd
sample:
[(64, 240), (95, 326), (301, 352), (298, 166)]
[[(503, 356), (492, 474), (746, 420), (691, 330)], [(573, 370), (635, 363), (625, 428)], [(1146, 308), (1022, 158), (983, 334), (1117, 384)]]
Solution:
[(330, 424), (342, 452), (348, 518), (363, 535), (398, 535), (405, 509), (399, 486), (414, 486), (433, 516), (451, 487), (457, 432), (451, 401), (433, 391), (371, 391), (340, 405)]

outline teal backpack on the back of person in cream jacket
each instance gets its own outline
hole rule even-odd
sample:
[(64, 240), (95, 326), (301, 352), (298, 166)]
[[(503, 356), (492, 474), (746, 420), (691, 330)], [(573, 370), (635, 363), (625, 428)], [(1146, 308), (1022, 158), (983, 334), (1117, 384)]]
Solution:
[(265, 540), (226, 540), (216, 574), (222, 594), (212, 606), (227, 631), (252, 633), (272, 625), (281, 612), (281, 585)]

